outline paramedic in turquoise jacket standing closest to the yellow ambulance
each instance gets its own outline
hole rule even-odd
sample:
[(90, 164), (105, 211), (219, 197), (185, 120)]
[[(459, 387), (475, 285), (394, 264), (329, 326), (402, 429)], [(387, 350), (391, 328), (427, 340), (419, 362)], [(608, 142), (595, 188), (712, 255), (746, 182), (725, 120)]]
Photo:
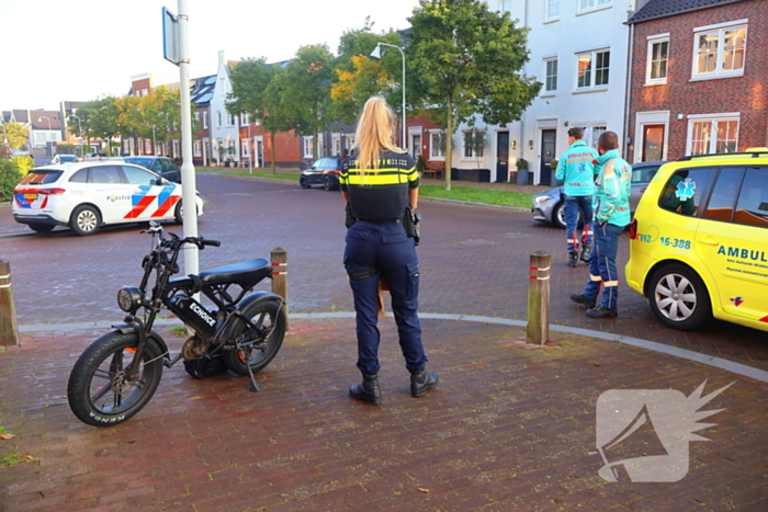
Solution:
[[(632, 167), (619, 153), (619, 137), (603, 132), (597, 143), (595, 181), (595, 250), (589, 258), (589, 281), (580, 294), (571, 294), (571, 300), (585, 305), (590, 318), (610, 318), (618, 314), (619, 273), (615, 255), (619, 236), (630, 224), (630, 192)], [(602, 285), (599, 306), (597, 296)], [(597, 307), (596, 307), (597, 306)]]

